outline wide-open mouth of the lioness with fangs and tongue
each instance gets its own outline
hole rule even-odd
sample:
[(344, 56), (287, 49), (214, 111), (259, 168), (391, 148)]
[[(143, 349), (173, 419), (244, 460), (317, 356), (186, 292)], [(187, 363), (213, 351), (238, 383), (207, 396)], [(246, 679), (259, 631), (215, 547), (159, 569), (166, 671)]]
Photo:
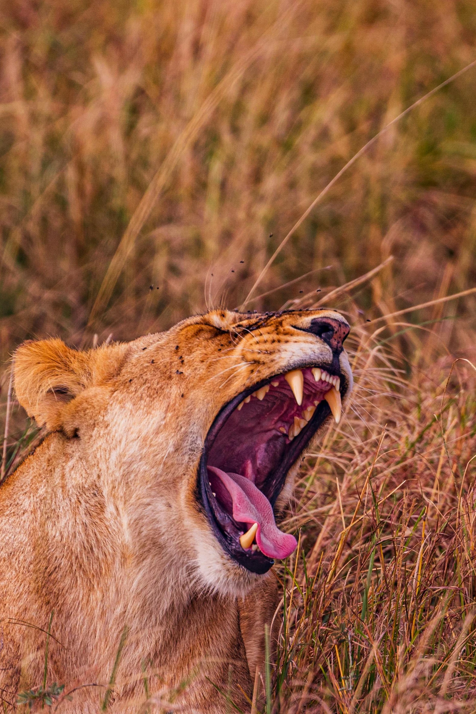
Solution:
[(293, 463), (333, 414), (340, 421), (341, 373), (310, 366), (255, 384), (226, 404), (208, 432), (199, 486), (223, 550), (253, 573), (297, 545), (280, 531), (274, 506)]

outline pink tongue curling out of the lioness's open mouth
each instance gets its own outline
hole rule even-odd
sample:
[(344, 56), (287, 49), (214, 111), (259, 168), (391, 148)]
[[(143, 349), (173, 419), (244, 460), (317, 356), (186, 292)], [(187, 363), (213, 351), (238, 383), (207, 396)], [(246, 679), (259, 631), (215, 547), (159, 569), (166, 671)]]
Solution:
[[(295, 550), (296, 539), (293, 535), (282, 533), (275, 524), (273, 508), (268, 498), (245, 476), (238, 473), (225, 473), (221, 468), (208, 466), (208, 471), (220, 479), (233, 502), (233, 518), (238, 523), (253, 526), (258, 523), (256, 543), (261, 553), (268, 558), (287, 558)], [(223, 499), (224, 500), (224, 499)]]

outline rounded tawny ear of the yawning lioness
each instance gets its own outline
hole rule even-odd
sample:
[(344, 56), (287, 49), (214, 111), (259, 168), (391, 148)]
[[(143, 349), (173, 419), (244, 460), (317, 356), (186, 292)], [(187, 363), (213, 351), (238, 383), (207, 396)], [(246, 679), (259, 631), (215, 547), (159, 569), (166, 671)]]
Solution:
[(59, 339), (24, 342), (14, 355), (19, 403), (39, 426), (46, 425), (50, 431), (61, 428), (71, 400), (117, 373), (123, 347), (76, 351)]

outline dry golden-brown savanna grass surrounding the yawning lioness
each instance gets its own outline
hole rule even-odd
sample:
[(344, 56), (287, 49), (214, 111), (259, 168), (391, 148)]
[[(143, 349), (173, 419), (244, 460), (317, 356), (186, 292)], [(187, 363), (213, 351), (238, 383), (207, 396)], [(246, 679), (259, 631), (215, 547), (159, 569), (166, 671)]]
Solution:
[[(353, 326), (352, 401), (286, 515), (299, 548), (275, 568), (256, 712), (476, 711), (476, 69), (385, 132), (262, 273), (346, 162), (474, 61), (475, 17), (472, 0), (0, 9), (2, 476), (41, 438), (9, 397), (25, 338), (133, 338), (238, 306), (259, 276), (246, 308), (317, 300)], [(153, 665), (138, 677), (138, 712), (173, 710), (149, 698)], [(56, 684), (20, 710), (61, 712), (76, 683)]]

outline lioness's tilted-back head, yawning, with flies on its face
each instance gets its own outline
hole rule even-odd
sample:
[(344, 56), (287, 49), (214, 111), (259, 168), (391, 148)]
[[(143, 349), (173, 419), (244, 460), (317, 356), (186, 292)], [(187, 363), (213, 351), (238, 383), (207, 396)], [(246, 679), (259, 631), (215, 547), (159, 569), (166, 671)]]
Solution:
[(83, 479), (120, 514), (125, 558), (173, 570), (171, 588), (178, 573), (243, 593), (295, 548), (275, 513), (300, 456), (340, 419), (348, 331), (330, 310), (215, 310), (89, 351), (27, 342), (16, 394), (56, 432), (65, 480)]

